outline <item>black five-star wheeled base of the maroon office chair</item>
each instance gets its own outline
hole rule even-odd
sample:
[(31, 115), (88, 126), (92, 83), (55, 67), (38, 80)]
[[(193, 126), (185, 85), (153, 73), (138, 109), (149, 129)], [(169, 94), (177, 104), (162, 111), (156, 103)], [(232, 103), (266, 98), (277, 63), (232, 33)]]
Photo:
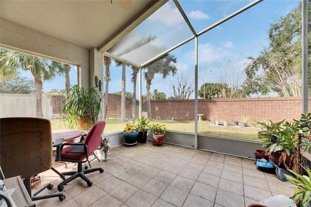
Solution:
[[(70, 181), (81, 177), (84, 181), (86, 181), (87, 186), (92, 186), (92, 181), (90, 179), (88, 179), (86, 177), (85, 174), (87, 173), (93, 173), (96, 171), (99, 171), (100, 173), (104, 173), (104, 169), (103, 168), (92, 168), (92, 169), (88, 169), (88, 170), (82, 170), (82, 163), (78, 163), (78, 171), (77, 172), (65, 172), (62, 173), (63, 175), (71, 175), (69, 178), (67, 178), (66, 180), (64, 180), (63, 182), (61, 182), (58, 186), (57, 186), (57, 190), (58, 191), (62, 191), (64, 190), (64, 185), (66, 185), (67, 183), (69, 183)], [(86, 168), (87, 169), (87, 168)]]

